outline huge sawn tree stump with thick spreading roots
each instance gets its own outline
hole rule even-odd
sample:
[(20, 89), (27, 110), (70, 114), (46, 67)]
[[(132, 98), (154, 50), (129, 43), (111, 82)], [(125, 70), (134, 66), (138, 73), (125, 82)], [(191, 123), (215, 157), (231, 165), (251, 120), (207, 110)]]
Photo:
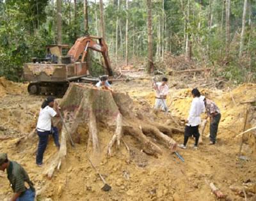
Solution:
[(61, 110), (67, 114), (72, 133), (76, 133), (81, 124), (88, 124), (88, 145), (93, 153), (100, 152), (97, 124), (112, 130), (113, 137), (108, 144), (111, 155), (113, 145), (120, 146), (123, 135), (131, 135), (140, 141), (141, 149), (154, 156), (162, 154), (161, 148), (149, 138), (156, 138), (157, 143), (166, 145), (171, 151), (176, 150), (176, 142), (171, 138), (172, 128), (152, 123), (149, 118), (138, 119), (132, 112), (132, 100), (125, 93), (111, 92), (104, 89), (70, 84), (60, 103)]

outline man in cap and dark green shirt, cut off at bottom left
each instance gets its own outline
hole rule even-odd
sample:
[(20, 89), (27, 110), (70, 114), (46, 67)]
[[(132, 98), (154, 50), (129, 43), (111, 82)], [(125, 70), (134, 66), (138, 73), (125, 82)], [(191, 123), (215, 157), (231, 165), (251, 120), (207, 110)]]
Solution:
[[(35, 188), (30, 181), (28, 173), (19, 163), (8, 160), (7, 154), (0, 154), (0, 170), (7, 171), (7, 177), (14, 192), (11, 201), (33, 201), (35, 200)], [(29, 188), (26, 188), (25, 183)]]

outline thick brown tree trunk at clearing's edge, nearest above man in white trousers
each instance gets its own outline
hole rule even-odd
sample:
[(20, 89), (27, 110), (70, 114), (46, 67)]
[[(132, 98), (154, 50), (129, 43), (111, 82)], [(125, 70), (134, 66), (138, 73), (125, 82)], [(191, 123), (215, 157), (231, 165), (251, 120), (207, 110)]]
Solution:
[(152, 36), (152, 2), (147, 0), (148, 9), (148, 72), (153, 73), (154, 61), (153, 61), (153, 36)]

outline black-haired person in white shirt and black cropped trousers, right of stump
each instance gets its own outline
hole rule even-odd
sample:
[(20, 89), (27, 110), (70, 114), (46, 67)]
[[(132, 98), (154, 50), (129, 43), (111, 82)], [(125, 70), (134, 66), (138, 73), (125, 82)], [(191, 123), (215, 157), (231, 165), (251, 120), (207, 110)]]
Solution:
[(200, 115), (205, 111), (204, 101), (200, 98), (201, 94), (198, 89), (192, 90), (193, 101), (191, 103), (191, 107), (189, 110), (189, 116), (185, 127), (184, 133), (184, 143), (179, 144), (179, 147), (182, 149), (186, 149), (186, 144), (188, 142), (188, 138), (193, 135), (195, 137), (195, 145), (194, 148), (198, 148), (198, 140), (200, 137), (200, 133), (198, 131), (198, 126), (201, 123)]

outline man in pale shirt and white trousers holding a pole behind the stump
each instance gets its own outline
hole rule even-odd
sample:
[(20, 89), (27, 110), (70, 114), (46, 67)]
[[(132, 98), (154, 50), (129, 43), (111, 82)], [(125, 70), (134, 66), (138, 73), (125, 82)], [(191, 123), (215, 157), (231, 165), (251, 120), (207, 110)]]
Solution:
[(155, 101), (155, 110), (168, 111), (166, 105), (166, 97), (169, 93), (169, 87), (167, 86), (168, 78), (163, 77), (162, 82), (156, 82), (154, 80), (153, 88), (156, 90), (156, 101)]

